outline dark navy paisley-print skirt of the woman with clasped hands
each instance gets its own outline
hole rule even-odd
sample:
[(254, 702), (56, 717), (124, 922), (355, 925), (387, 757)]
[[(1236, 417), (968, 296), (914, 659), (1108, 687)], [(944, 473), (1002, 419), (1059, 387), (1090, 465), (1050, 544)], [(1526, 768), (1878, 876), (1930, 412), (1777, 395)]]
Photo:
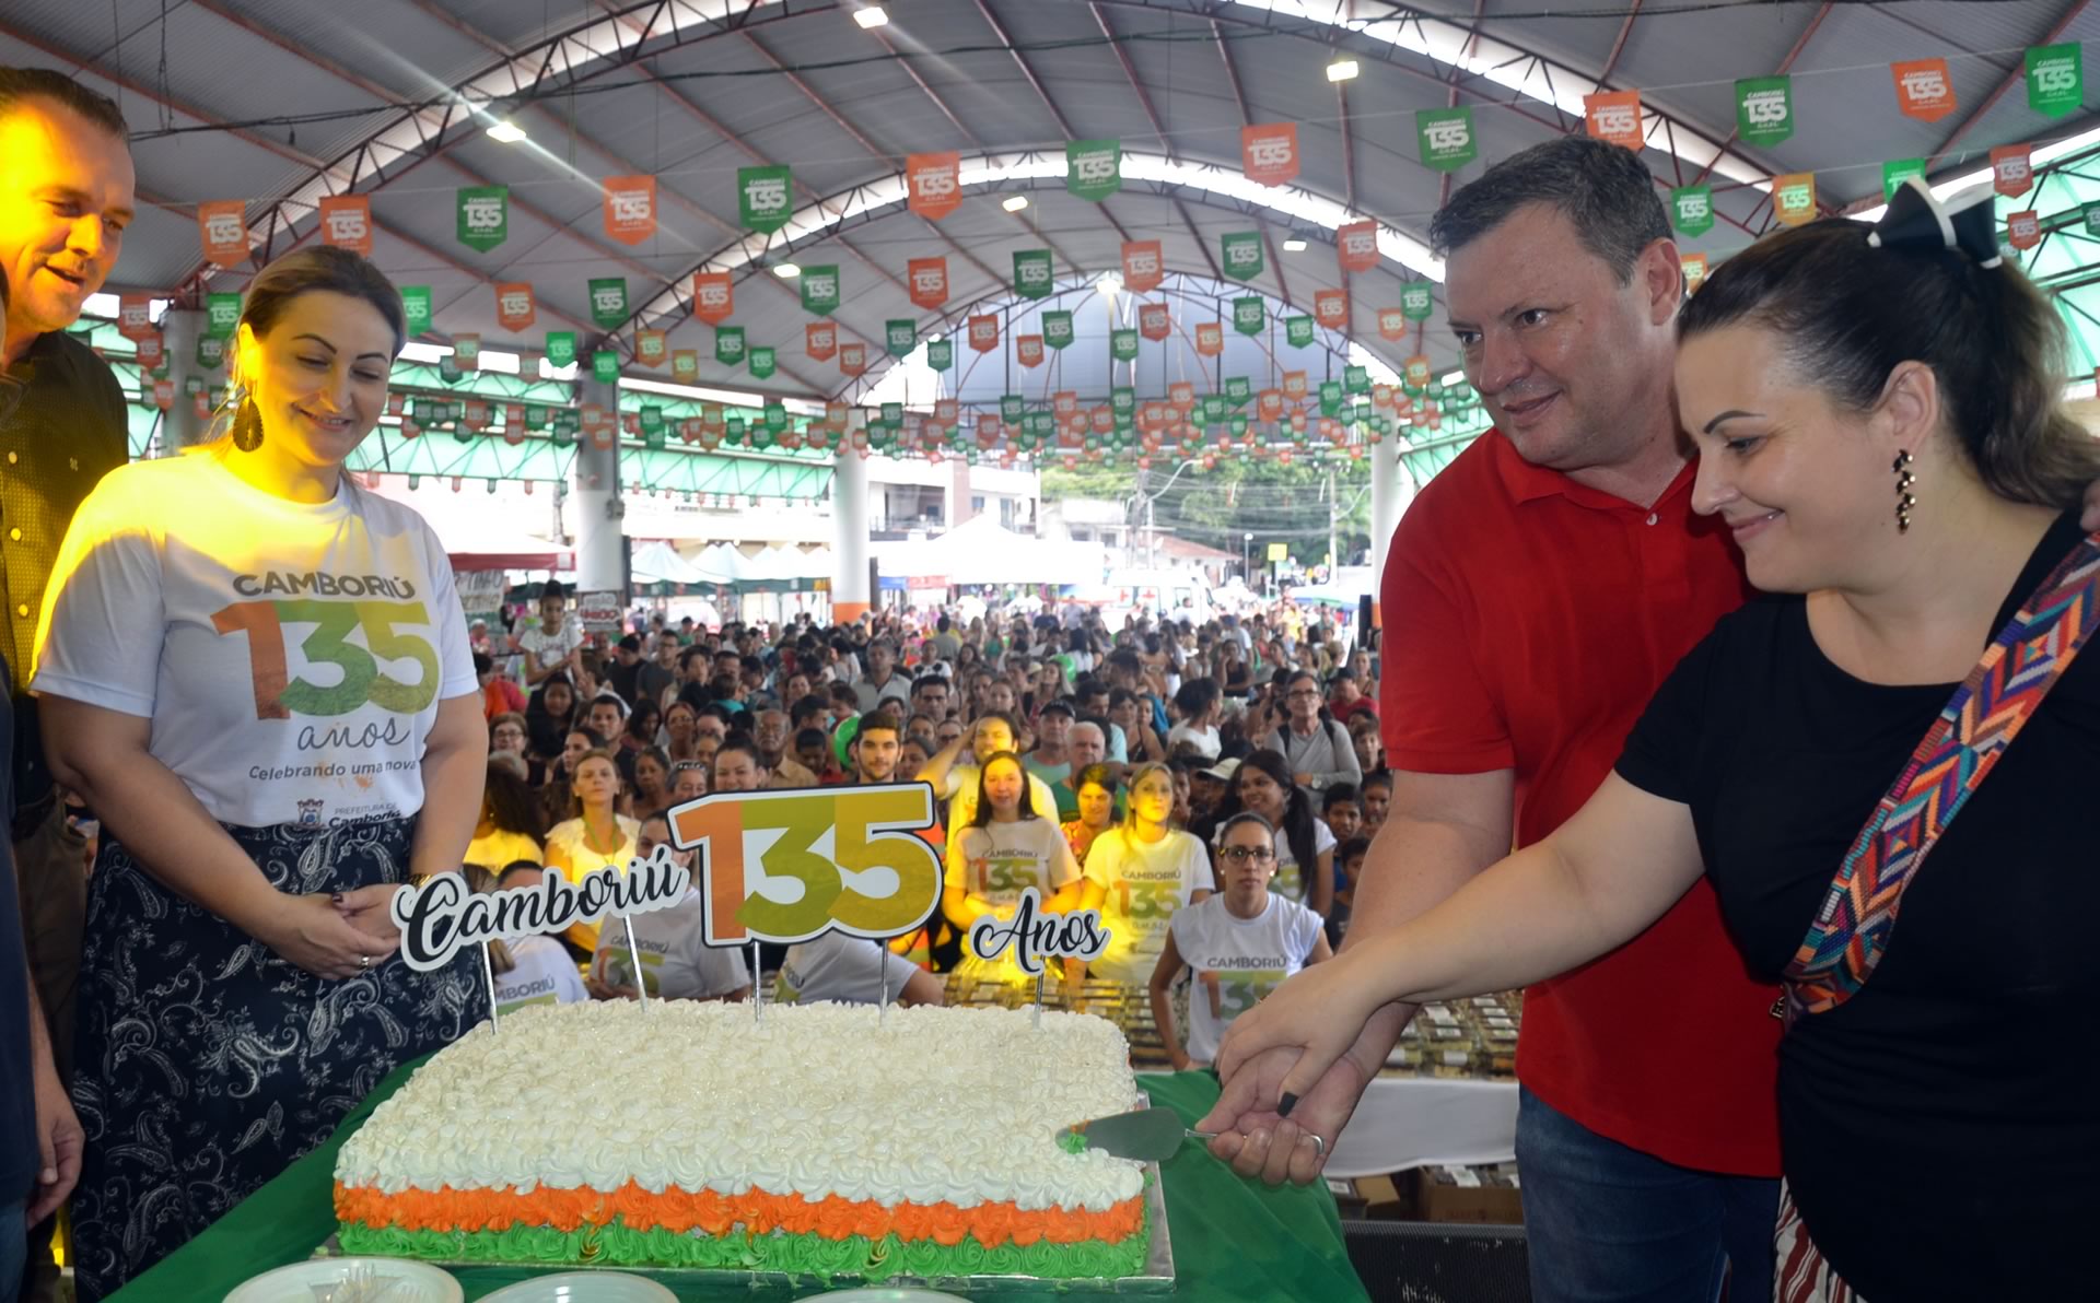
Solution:
[[(414, 818), (227, 827), (286, 894), (407, 879)], [(328, 1139), (382, 1076), (487, 1018), (479, 959), (336, 982), (164, 888), (105, 837), (88, 885), (74, 1108), (82, 1301)]]

